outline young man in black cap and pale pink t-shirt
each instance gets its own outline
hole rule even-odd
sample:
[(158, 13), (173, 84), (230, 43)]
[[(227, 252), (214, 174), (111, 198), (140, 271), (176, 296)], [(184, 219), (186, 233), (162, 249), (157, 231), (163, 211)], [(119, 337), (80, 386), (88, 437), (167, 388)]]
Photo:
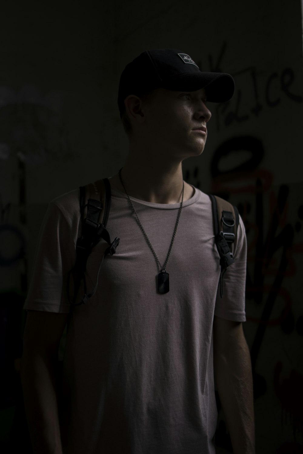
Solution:
[[(202, 73), (180, 50), (145, 51), (126, 66), (118, 105), (129, 155), (109, 179), (107, 224), (120, 244), (96, 294), (73, 308), (66, 281), (79, 193), (50, 203), (25, 302), (22, 382), (35, 452), (213, 454), (216, 380), (234, 453), (254, 453), (243, 222), (221, 298), (211, 202), (182, 175), (182, 161), (204, 150), (207, 103), (233, 91), (229, 74)], [(90, 289), (105, 246), (89, 256)], [(59, 424), (54, 364), (66, 322)]]

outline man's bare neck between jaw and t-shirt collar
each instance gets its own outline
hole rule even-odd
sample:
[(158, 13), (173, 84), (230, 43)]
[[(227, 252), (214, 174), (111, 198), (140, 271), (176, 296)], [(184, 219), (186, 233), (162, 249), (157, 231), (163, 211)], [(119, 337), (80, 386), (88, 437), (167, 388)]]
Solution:
[[(121, 172), (122, 181), (130, 197), (152, 203), (173, 204), (182, 199), (182, 164), (159, 166), (132, 162), (128, 158)], [(119, 173), (111, 178), (113, 186), (125, 192)], [(194, 189), (184, 182), (184, 202), (193, 196)]]

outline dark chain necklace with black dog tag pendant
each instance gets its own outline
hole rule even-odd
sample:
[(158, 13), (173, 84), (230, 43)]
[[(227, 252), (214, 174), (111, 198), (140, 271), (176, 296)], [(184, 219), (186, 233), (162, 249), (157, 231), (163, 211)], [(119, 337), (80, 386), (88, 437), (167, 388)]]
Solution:
[(167, 262), (169, 261), (170, 252), (171, 252), (173, 244), (174, 244), (174, 237), (176, 236), (176, 232), (177, 232), (177, 228), (178, 228), (178, 224), (179, 224), (179, 219), (180, 219), (180, 216), (181, 216), (181, 211), (182, 211), (182, 206), (183, 206), (183, 196), (184, 196), (184, 182), (183, 182), (183, 189), (182, 189), (182, 200), (181, 200), (181, 205), (180, 205), (180, 208), (179, 208), (179, 214), (178, 214), (176, 226), (174, 228), (174, 234), (173, 234), (173, 237), (172, 237), (172, 241), (170, 243), (169, 252), (168, 252), (166, 261), (165, 261), (164, 265), (162, 266), (161, 263), (159, 262), (159, 258), (157, 257), (157, 254), (154, 252), (154, 248), (152, 247), (151, 242), (149, 241), (149, 237), (147, 236), (147, 233), (144, 230), (144, 227), (143, 227), (143, 225), (142, 225), (142, 223), (141, 223), (141, 221), (139, 219), (139, 216), (138, 216), (136, 210), (134, 209), (134, 205), (133, 205), (132, 201), (130, 200), (129, 195), (128, 195), (126, 189), (125, 189), (125, 186), (124, 186), (124, 183), (123, 183), (122, 177), (121, 177), (122, 168), (123, 167), (121, 167), (120, 170), (119, 170), (120, 182), (121, 182), (121, 184), (122, 184), (122, 186), (124, 188), (124, 191), (125, 191), (125, 193), (127, 195), (127, 199), (128, 199), (129, 205), (130, 205), (132, 211), (134, 212), (134, 214), (137, 217), (137, 221), (138, 221), (139, 227), (140, 227), (140, 229), (143, 232), (143, 235), (144, 235), (144, 237), (145, 237), (145, 239), (147, 241), (147, 244), (149, 245), (149, 248), (150, 248), (151, 252), (153, 253), (154, 258), (156, 259), (156, 262), (158, 263), (158, 265), (161, 268), (161, 271), (158, 274), (158, 291), (159, 291), (159, 293), (167, 293), (169, 291), (169, 273), (166, 272), (166, 265), (167, 265)]

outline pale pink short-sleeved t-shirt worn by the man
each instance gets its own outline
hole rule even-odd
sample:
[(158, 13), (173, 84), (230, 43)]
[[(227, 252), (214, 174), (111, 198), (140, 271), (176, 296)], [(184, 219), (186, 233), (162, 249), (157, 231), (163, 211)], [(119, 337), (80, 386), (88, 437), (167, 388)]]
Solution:
[[(130, 198), (163, 265), (180, 204)], [(214, 454), (213, 321), (214, 315), (246, 320), (242, 219), (221, 298), (211, 202), (195, 188), (183, 204), (166, 266), (169, 292), (159, 294), (159, 266), (126, 195), (112, 187), (107, 230), (111, 241), (120, 238), (117, 252), (105, 257), (96, 294), (70, 311), (66, 280), (75, 263), (79, 225), (78, 190), (50, 202), (24, 306), (70, 312), (63, 365), (64, 452)], [(89, 256), (88, 291), (107, 246), (101, 240)]]

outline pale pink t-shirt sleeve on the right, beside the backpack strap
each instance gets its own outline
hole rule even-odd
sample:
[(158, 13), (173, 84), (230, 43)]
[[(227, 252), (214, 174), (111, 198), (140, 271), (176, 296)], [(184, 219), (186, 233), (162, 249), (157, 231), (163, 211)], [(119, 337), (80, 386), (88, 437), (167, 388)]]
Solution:
[(223, 279), (223, 298), (218, 288), (214, 315), (232, 321), (246, 321), (245, 281), (247, 241), (243, 220), (240, 217), (236, 244), (234, 244), (234, 262), (228, 266)]

